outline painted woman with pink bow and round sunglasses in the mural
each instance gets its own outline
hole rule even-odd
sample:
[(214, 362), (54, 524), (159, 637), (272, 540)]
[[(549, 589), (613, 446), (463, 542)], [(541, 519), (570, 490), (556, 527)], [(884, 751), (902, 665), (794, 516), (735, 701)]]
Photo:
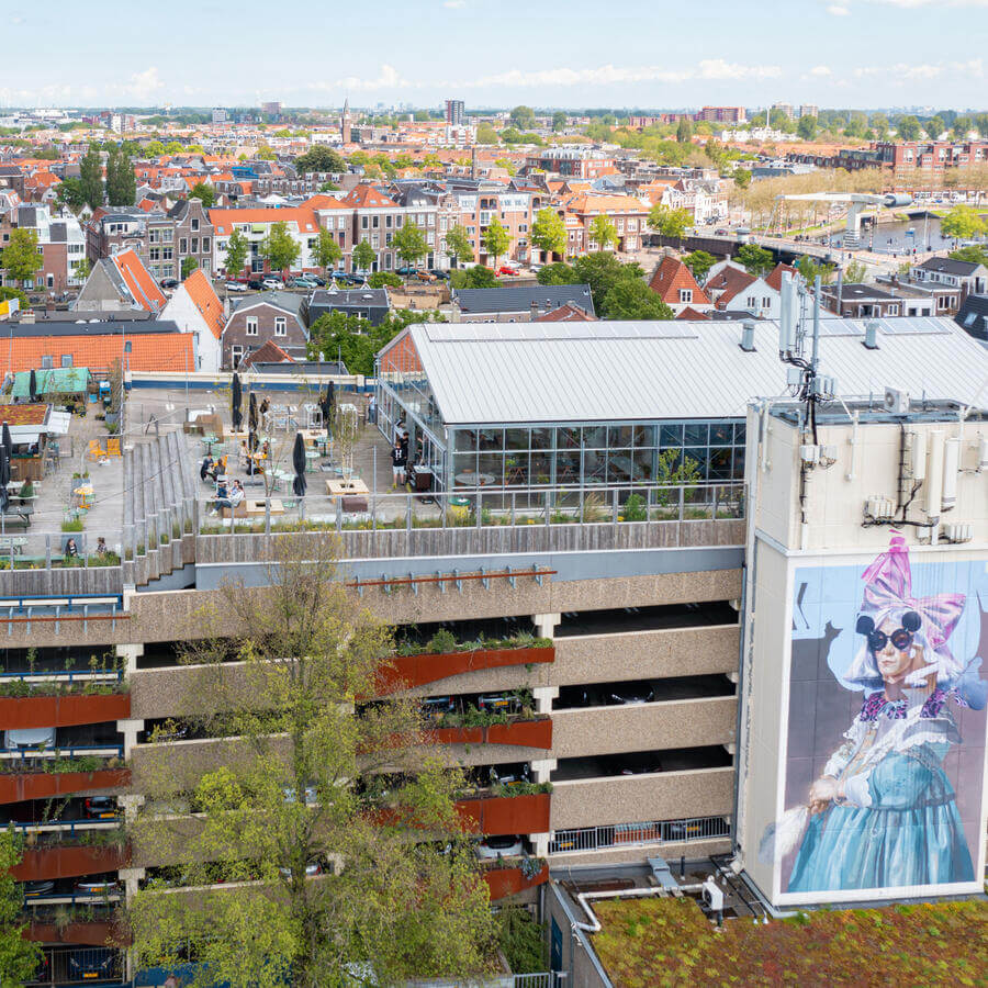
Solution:
[(951, 706), (985, 703), (979, 663), (965, 666), (947, 645), (965, 597), (913, 598), (909, 552), (898, 535), (862, 579), (860, 648), (839, 677), (865, 698), (810, 788), (790, 892), (974, 879), (942, 767), (961, 742)]

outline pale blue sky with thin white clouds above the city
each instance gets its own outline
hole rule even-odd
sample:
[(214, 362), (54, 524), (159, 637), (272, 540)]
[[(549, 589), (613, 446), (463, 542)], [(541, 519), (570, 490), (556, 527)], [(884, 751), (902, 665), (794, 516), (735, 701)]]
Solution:
[(988, 0), (4, 7), (0, 108), (988, 109)]

